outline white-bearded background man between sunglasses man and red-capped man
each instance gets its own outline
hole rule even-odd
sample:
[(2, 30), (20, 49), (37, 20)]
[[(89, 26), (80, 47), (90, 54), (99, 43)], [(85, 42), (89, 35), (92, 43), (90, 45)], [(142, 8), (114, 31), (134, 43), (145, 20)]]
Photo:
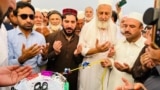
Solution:
[(49, 25), (48, 28), (50, 33), (55, 33), (58, 30), (62, 30), (62, 15), (56, 10), (52, 10), (48, 13)]

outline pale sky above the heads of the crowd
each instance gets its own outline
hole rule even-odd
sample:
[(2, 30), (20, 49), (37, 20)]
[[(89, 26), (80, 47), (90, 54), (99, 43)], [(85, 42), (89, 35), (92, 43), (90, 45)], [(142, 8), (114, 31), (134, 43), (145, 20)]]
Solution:
[[(113, 0), (115, 3), (119, 0)], [(154, 0), (127, 0), (127, 4), (122, 7), (123, 14), (128, 14), (130, 12), (140, 12), (144, 13), (144, 11), (153, 7)], [(64, 8), (74, 8), (78, 11), (84, 11), (85, 7), (91, 6), (96, 10), (98, 0), (32, 0), (32, 5), (35, 8), (40, 9), (55, 9), (58, 11), (62, 11)], [(115, 7), (113, 7), (115, 9)]]

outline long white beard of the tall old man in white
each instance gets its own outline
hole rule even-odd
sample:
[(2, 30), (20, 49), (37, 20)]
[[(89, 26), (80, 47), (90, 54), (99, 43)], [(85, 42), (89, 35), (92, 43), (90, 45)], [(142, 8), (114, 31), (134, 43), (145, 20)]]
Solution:
[(109, 26), (109, 20), (108, 21), (100, 21), (100, 20), (96, 19), (96, 26), (99, 29), (106, 30), (108, 28), (108, 26)]

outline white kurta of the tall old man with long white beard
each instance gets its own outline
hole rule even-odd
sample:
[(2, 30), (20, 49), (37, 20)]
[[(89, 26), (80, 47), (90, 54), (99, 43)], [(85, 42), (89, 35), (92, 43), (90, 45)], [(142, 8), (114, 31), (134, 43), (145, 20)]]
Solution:
[[(96, 39), (98, 39), (101, 44), (106, 41), (110, 41), (114, 44), (116, 40), (116, 26), (111, 20), (109, 21), (110, 27), (108, 30), (104, 31), (100, 31), (96, 27), (95, 20), (96, 19), (94, 18), (91, 22), (85, 24), (80, 33), (79, 44), (82, 45), (82, 54), (85, 56), (83, 62), (88, 61), (89, 63), (95, 63), (107, 58), (107, 52), (86, 55), (89, 49), (95, 48)], [(107, 85), (108, 76), (109, 70), (102, 68), (100, 63), (96, 63), (89, 68), (81, 69), (79, 73), (78, 90), (102, 90), (102, 88), (105, 88), (103, 87), (103, 84), (105, 84), (105, 86)]]

